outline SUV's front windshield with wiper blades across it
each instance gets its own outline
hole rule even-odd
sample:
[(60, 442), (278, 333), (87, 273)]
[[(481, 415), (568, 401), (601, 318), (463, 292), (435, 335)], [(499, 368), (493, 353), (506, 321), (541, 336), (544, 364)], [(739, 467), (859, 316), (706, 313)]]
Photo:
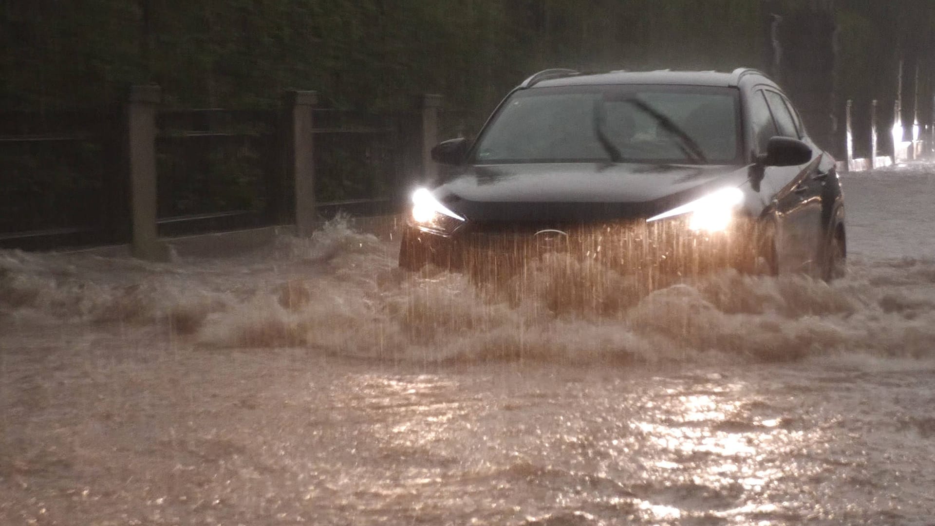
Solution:
[(740, 158), (736, 89), (563, 86), (518, 91), (474, 151), (478, 164), (732, 164)]

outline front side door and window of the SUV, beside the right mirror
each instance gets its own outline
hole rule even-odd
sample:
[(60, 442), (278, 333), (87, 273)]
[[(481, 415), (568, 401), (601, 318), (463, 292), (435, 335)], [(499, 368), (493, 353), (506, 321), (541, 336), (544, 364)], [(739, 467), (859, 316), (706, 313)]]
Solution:
[[(789, 109), (788, 101), (779, 92), (764, 89), (763, 95), (770, 106), (770, 113), (780, 136), (801, 139), (798, 126)], [(785, 220), (779, 232), (779, 242), (787, 250), (787, 270), (812, 272), (818, 259), (818, 247), (822, 241), (822, 181), (816, 178), (816, 168), (821, 151), (813, 147), (812, 159), (803, 165), (778, 168), (784, 170), (783, 179), (788, 178), (779, 192), (779, 208)]]

